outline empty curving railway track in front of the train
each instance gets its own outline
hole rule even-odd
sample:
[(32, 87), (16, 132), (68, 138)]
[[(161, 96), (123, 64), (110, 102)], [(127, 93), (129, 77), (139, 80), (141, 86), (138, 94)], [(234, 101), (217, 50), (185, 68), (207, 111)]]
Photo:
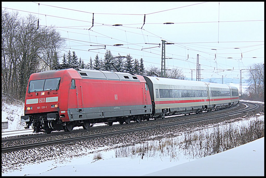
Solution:
[[(31, 144), (23, 144), (23, 145), (2, 147), (2, 152), (9, 152), (9, 151), (14, 151), (14, 150), (19, 150), (19, 149), (28, 149), (28, 148), (31, 148), (31, 147), (44, 146), (44, 145), (72, 144), (72, 142), (74, 142), (74, 141), (89, 140), (89, 139), (94, 139), (94, 138), (101, 138), (101, 137), (108, 137), (108, 136), (114, 136), (114, 135), (119, 135), (119, 134), (126, 134), (126, 133), (132, 133), (132, 132), (145, 131), (145, 130), (150, 130), (150, 129), (170, 127), (170, 126), (173, 126), (173, 125), (188, 124), (188, 123), (193, 123), (193, 122), (199, 122), (199, 121), (202, 121), (202, 120), (221, 118), (221, 117), (226, 117), (226, 116), (240, 114), (240, 113), (243, 113), (243, 112), (249, 112), (249, 111), (255, 110), (256, 108), (259, 107), (259, 105), (255, 104), (255, 103), (248, 103), (248, 102), (241, 102), (241, 103), (246, 103), (246, 105), (248, 105), (248, 106), (246, 108), (244, 108), (244, 109), (241, 109), (241, 110), (238, 110), (238, 111), (228, 112), (226, 114), (223, 113), (223, 114), (217, 114), (215, 116), (206, 116), (206, 117), (201, 117), (201, 118), (196, 118), (196, 119), (189, 119), (189, 120), (184, 120), (184, 121), (174, 121), (174, 122), (171, 122), (171, 123), (157, 124), (157, 125), (151, 125), (151, 126), (146, 126), (146, 127), (125, 129), (125, 130), (119, 130), (119, 131), (113, 131), (113, 132), (105, 132), (105, 133), (99, 133), (99, 134), (90, 134), (90, 135), (84, 135), (84, 136), (78, 136), (78, 137), (71, 137), (71, 138), (57, 139), (57, 140), (51, 140), (51, 141), (36, 142), (36, 143), (31, 143)], [(202, 116), (202, 115), (198, 115), (198, 116)], [(180, 117), (178, 117), (178, 118), (180, 118)], [(173, 119), (173, 118), (171, 118), (171, 119)], [(136, 123), (136, 124), (139, 124), (139, 123)], [(130, 124), (130, 125), (133, 125), (133, 124)], [(118, 125), (118, 126), (114, 125), (114, 126), (118, 127), (118, 126), (121, 126), (121, 125)], [(111, 128), (111, 127), (108, 127), (108, 128)], [(95, 128), (95, 129), (98, 129), (98, 128)], [(87, 131), (87, 130), (84, 130), (84, 131)], [(63, 132), (63, 133), (65, 133), (65, 132)], [(45, 134), (45, 135), (48, 136), (48, 134)]]

